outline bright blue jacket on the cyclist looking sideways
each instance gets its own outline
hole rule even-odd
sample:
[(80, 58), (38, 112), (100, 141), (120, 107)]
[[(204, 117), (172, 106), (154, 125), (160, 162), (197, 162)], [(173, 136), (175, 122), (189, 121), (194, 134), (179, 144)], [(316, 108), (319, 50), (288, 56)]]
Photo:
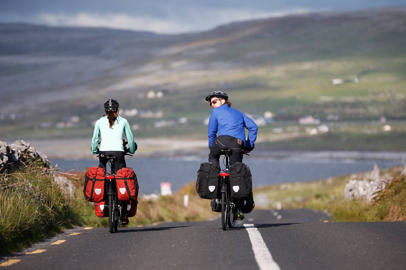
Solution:
[[(248, 139), (245, 139), (244, 128), (248, 129)], [(209, 118), (209, 147), (212, 147), (217, 136), (229, 135), (241, 139), (246, 146), (254, 147), (257, 139), (258, 126), (255, 122), (241, 111), (222, 105), (212, 110)], [(217, 136), (216, 136), (217, 133)]]

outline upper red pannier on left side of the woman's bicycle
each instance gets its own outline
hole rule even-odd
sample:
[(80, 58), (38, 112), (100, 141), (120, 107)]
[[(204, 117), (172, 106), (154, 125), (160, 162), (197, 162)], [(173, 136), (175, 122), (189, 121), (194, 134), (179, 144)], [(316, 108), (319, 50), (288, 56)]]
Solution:
[(90, 167), (84, 176), (83, 195), (88, 201), (100, 202), (104, 197), (106, 169)]

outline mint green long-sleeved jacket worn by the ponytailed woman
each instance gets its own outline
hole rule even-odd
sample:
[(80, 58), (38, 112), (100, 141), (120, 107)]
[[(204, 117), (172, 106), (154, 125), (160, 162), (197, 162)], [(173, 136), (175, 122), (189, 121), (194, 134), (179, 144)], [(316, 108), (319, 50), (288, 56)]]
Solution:
[(99, 137), (102, 139), (100, 143), (100, 151), (123, 151), (123, 131), (127, 137), (130, 154), (135, 152), (134, 136), (132, 135), (130, 125), (125, 118), (117, 116), (112, 129), (108, 123), (107, 116), (103, 116), (97, 120), (95, 124), (95, 131), (92, 138), (92, 152), (97, 154), (97, 145), (99, 144)]

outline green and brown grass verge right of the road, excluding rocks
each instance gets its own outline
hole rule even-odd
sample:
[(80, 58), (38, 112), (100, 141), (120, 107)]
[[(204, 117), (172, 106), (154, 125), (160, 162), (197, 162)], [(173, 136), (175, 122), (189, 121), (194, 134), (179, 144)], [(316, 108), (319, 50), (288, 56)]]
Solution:
[(280, 201), (282, 208), (310, 208), (326, 211), (333, 221), (406, 221), (406, 175), (400, 168), (385, 170), (393, 180), (372, 203), (363, 199), (346, 201), (344, 187), (349, 176), (338, 176), (327, 180), (278, 184), (254, 189), (254, 194), (266, 195), (269, 207)]

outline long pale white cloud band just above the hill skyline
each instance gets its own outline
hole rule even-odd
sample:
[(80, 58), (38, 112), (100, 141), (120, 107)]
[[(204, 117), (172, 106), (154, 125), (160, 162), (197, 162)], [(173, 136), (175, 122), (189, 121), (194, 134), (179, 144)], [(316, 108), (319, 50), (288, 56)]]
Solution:
[(309, 9), (292, 9), (289, 11), (257, 11), (246, 9), (203, 9), (187, 10), (165, 17), (151, 15), (129, 15), (127, 13), (88, 13), (73, 15), (42, 13), (41, 21), (52, 26), (87, 26), (107, 27), (126, 30), (143, 30), (158, 33), (182, 33), (214, 28), (220, 24), (266, 17), (281, 17), (289, 14), (309, 13)]

